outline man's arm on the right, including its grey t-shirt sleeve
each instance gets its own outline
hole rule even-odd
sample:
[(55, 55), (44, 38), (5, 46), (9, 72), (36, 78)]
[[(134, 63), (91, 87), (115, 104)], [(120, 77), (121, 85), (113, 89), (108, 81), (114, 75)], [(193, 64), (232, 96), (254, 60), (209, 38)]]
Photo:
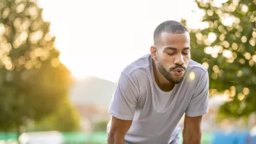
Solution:
[(200, 78), (193, 91), (193, 96), (186, 108), (184, 120), (183, 138), (184, 144), (200, 144), (201, 143), (201, 121), (202, 116), (209, 111), (208, 94), (209, 94), (209, 75), (207, 71), (198, 75)]

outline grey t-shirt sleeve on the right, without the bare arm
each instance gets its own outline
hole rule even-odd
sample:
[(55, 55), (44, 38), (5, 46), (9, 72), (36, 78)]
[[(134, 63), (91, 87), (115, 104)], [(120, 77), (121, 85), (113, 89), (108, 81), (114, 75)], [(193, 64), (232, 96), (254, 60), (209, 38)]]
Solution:
[(202, 116), (209, 111), (209, 75), (208, 72), (202, 76), (201, 80), (195, 87), (195, 92), (186, 108), (186, 116)]

